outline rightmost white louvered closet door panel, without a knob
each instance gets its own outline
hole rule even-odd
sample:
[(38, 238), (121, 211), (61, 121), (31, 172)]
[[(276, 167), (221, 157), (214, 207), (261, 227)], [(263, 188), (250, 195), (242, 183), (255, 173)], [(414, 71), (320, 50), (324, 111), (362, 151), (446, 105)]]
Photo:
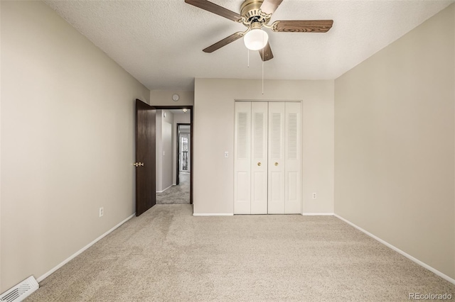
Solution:
[(301, 108), (286, 103), (284, 213), (301, 213)]

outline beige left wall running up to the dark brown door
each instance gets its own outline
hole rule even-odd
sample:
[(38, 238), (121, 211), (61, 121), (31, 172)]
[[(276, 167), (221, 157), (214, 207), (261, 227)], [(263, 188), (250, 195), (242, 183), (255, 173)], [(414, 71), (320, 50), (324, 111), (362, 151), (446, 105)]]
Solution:
[(150, 92), (38, 1), (1, 1), (1, 76), (3, 292), (134, 213), (134, 99)]

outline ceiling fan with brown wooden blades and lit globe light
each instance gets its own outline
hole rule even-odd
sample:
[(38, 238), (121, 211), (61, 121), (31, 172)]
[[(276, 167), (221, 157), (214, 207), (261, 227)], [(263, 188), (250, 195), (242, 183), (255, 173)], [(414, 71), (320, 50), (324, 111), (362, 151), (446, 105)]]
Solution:
[(278, 9), (283, 0), (245, 0), (240, 7), (240, 14), (225, 9), (223, 6), (207, 0), (185, 0), (210, 13), (242, 23), (247, 27), (245, 31), (239, 31), (203, 49), (203, 52), (214, 52), (245, 36), (245, 46), (250, 50), (259, 50), (262, 61), (273, 58), (272, 49), (268, 42), (267, 33), (262, 28), (269, 28), (274, 32), (288, 33), (326, 33), (331, 29), (333, 20), (287, 20), (274, 21), (269, 24), (272, 13)]

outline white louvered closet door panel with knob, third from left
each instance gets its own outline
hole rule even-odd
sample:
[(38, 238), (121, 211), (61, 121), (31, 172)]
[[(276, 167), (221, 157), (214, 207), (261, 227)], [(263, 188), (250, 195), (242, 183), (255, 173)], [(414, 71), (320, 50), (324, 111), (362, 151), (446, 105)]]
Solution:
[(269, 102), (268, 213), (284, 213), (285, 103)]

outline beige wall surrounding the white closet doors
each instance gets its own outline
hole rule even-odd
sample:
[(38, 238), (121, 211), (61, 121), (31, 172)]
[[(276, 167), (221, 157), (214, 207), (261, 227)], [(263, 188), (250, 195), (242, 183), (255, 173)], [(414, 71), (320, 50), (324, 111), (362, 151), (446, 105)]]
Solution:
[(333, 213), (333, 81), (267, 80), (263, 95), (261, 87), (260, 80), (196, 79), (194, 213), (233, 213), (235, 99), (303, 101), (303, 212)]

